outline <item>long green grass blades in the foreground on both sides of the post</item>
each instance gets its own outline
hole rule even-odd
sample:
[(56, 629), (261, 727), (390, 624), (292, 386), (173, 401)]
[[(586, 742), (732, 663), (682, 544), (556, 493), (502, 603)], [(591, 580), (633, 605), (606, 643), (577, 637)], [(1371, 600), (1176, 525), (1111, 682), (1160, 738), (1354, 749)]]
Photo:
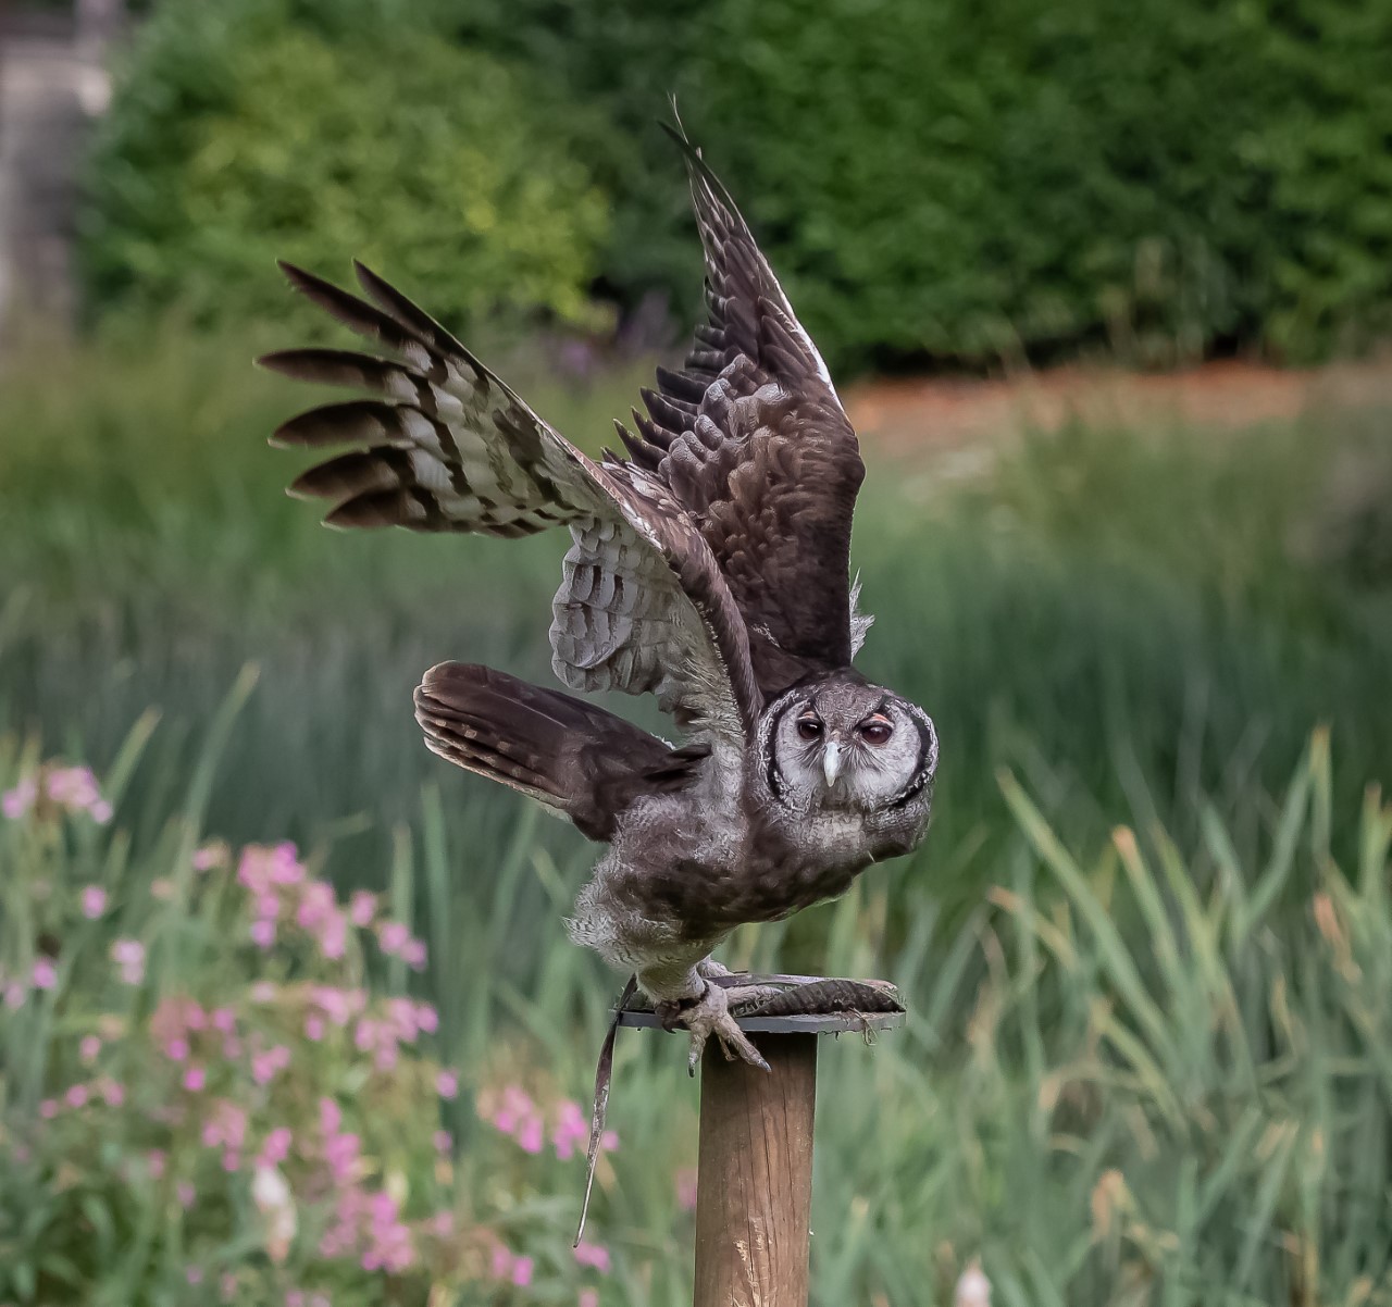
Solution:
[[(26, 842), (11, 823), (13, 910), (68, 892), (97, 867), (124, 930), (157, 878), (187, 885), (203, 796), (230, 778), (216, 767), (214, 739), (166, 813), (161, 839), (135, 852), (121, 828), (121, 773), (129, 775), (145, 735), (111, 778), (110, 837)], [(0, 750), (0, 782), (24, 766)], [(1377, 786), (1361, 805), (1342, 806), (1334, 777), (1320, 732), (1272, 798), (1249, 856), (1211, 805), (1193, 814), (1192, 838), (1151, 818), (1068, 846), (1030, 788), (1002, 773), (1009, 827), (995, 884), (963, 920), (944, 923), (924, 881), (895, 891), (863, 878), (825, 910), (825, 969), (894, 977), (909, 1020), (871, 1047), (846, 1037), (820, 1049), (818, 1307), (947, 1303), (974, 1257), (1008, 1307), (1392, 1303), (1392, 807)], [(416, 990), (440, 1012), (434, 1055), (459, 1068), (468, 1090), (444, 1104), (459, 1211), (535, 1250), (554, 1296), (565, 1282), (557, 1250), (578, 1208), (580, 1159), (519, 1171), (477, 1118), (477, 1095), (512, 1080), (583, 1101), (618, 977), (565, 940), (560, 917), (576, 869), (539, 846), (536, 820), (528, 811), (505, 832), (490, 876), (461, 877), (473, 850), (427, 791), (397, 838), (390, 909), (427, 923), (433, 960)], [(1334, 856), (1336, 831), (1353, 849), (1346, 863)], [(160, 912), (168, 919), (170, 909)], [(889, 928), (895, 917), (901, 930)], [(198, 942), (198, 923), (167, 924), (173, 933), (150, 935), (160, 966), (149, 1002), (230, 992), (234, 941)], [(63, 974), (70, 952), (85, 972), (88, 953), (104, 955), (92, 934), (61, 942)], [(786, 926), (746, 928), (727, 958), (777, 967), (789, 938)], [(7, 963), (28, 949), (14, 931), (4, 942)], [(205, 973), (205, 958), (220, 969)], [(400, 992), (406, 973), (388, 969), (395, 974), (383, 979)], [(32, 1017), (21, 1024), (25, 1009), (0, 1013), (0, 1072), (11, 1086), (0, 1148), (31, 1137), (25, 1107), (61, 1088), (70, 1045), (93, 1016), (90, 998), (74, 997), (67, 981), (45, 1002), (38, 1040)], [(301, 1052), (320, 1065), (313, 1047)], [(132, 1091), (143, 1075), (129, 1068)], [(295, 1075), (309, 1083), (306, 1070)], [(695, 1162), (696, 1107), (679, 1041), (625, 1033), (610, 1104), (621, 1147), (601, 1168), (590, 1225), (614, 1253), (604, 1301), (658, 1307), (689, 1297), (693, 1229), (675, 1178)], [(135, 1125), (141, 1147), (157, 1144), (148, 1125)], [(63, 1196), (75, 1183), (109, 1189), (120, 1147), (110, 1141), (100, 1175), (56, 1172), (52, 1193), (31, 1189), (25, 1201), (68, 1203), (79, 1225), (95, 1219)], [(409, 1191), (430, 1183), (409, 1169), (418, 1165), (429, 1171), (420, 1158), (409, 1164)], [(0, 1194), (22, 1200), (15, 1186), (45, 1175), (7, 1172)], [(117, 1269), (122, 1283), (143, 1283), (138, 1268), (103, 1271), (84, 1261), (71, 1232), (52, 1232), (68, 1249), (63, 1274), (74, 1283), (95, 1276), (102, 1300), (116, 1300)], [(193, 1232), (187, 1221), (153, 1236), (152, 1264), (166, 1282), (182, 1257), (207, 1253), (206, 1235), (195, 1243)], [(166, 1237), (189, 1242), (166, 1247)], [(216, 1257), (248, 1283), (274, 1282), (255, 1233)], [(372, 1300), (369, 1285), (355, 1286), (345, 1301)]]

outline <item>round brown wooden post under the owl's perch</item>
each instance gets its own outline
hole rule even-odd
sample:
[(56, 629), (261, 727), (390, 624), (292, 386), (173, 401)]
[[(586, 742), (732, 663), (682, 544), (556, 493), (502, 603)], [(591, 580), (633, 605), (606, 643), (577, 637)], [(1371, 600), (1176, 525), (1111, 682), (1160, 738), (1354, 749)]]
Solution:
[(817, 1036), (752, 1038), (770, 1072), (702, 1063), (695, 1307), (807, 1307)]

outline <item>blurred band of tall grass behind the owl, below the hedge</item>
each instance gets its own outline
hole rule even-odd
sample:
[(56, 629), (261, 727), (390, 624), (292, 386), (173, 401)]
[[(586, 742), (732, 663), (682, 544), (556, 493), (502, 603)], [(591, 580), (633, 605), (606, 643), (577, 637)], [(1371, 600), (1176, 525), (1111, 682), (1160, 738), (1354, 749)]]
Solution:
[[(550, 683), (564, 540), (323, 530), (281, 493), (298, 462), (264, 443), (315, 398), (249, 366), (281, 342), (170, 330), (10, 362), (0, 721), (102, 764), (160, 711), (132, 778), (132, 803), (156, 811), (255, 664), (217, 830), (331, 846), (342, 881), (370, 880), (429, 781), (477, 850), (484, 870), (468, 874), (486, 876), (518, 802), (427, 754), (409, 695), (441, 658)], [(505, 370), (597, 448), (649, 365), (583, 383), (541, 356)], [(1069, 838), (1146, 786), (1166, 820), (1211, 799), (1244, 848), (1313, 724), (1329, 724), (1350, 775), (1386, 777), (1392, 718), (1373, 708), (1392, 690), (1392, 580), (1340, 553), (1336, 494), (1350, 458), (1385, 450), (1384, 429), (1382, 413), (1336, 409), (1222, 438), (1077, 426), (1002, 450), (965, 484), (867, 450), (855, 564), (878, 622), (862, 664), (923, 703), (944, 742), (927, 849), (876, 874), (976, 901), (999, 852), (999, 766)], [(654, 722), (646, 704), (615, 707)], [(561, 827), (537, 838), (585, 856)]]

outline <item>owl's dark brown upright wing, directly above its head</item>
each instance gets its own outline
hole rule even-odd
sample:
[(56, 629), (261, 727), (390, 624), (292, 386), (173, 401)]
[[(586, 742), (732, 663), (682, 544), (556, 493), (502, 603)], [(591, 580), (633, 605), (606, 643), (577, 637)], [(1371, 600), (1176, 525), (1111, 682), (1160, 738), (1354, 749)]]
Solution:
[(709, 320), (681, 372), (658, 369), (635, 464), (695, 519), (745, 617), (766, 697), (851, 663), (851, 516), (864, 464), (827, 365), (729, 193), (679, 131), (706, 251)]

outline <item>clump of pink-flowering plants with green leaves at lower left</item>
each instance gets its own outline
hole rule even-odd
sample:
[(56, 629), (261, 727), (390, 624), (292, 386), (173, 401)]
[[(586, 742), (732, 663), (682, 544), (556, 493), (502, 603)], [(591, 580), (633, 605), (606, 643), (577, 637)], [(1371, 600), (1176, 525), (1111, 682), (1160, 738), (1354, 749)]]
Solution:
[[(405, 992), (427, 952), (391, 914), (409, 912), (409, 867), (347, 903), (292, 845), (199, 845), (216, 738), (252, 679), (148, 841), (127, 781), (153, 717), (102, 788), (0, 736), (0, 1293), (574, 1300), (593, 1271), (571, 1255), (571, 1214), (562, 1229), (515, 1205), (572, 1182), (585, 1118), (500, 1056), (441, 1066), (440, 1013)], [(448, 1034), (458, 1054), (457, 1022)], [(461, 1086), (514, 1120), (487, 1111), (483, 1129)]]

